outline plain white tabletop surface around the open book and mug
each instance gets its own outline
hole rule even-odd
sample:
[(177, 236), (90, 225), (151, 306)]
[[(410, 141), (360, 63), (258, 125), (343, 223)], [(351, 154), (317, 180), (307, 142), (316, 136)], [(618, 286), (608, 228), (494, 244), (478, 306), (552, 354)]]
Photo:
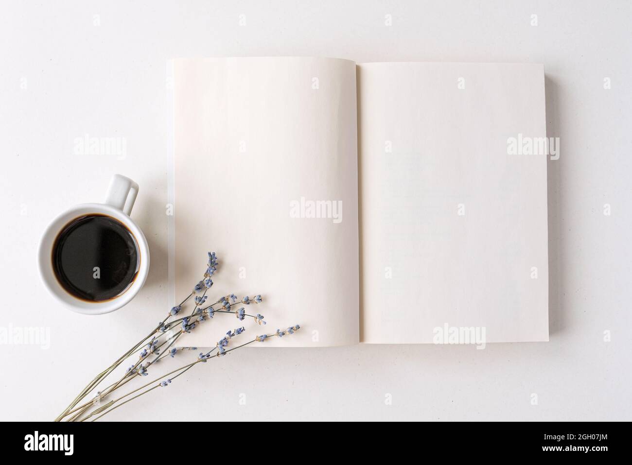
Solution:
[[(544, 63), (547, 132), (561, 138), (549, 162), (550, 342), (236, 351), (109, 418), (630, 420), (631, 20), (627, 2), (4, 3), (0, 324), (47, 327), (51, 341), (0, 346), (0, 419), (54, 418), (164, 314), (167, 58), (310, 55)], [(125, 137), (125, 159), (75, 155), (86, 133)], [(40, 283), (37, 243), (61, 210), (101, 201), (114, 172), (140, 184), (132, 217), (149, 279), (123, 310), (77, 315)]]

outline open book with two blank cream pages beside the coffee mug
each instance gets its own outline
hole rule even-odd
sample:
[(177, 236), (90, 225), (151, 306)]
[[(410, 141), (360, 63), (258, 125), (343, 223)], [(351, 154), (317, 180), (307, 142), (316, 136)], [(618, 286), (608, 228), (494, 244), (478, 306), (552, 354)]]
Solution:
[[(541, 64), (174, 62), (176, 296), (262, 294), (279, 346), (547, 341)], [(521, 152), (521, 151), (520, 151)], [(187, 336), (212, 346), (232, 315)], [(268, 344), (270, 342), (270, 344)], [(444, 342), (447, 342), (444, 341)]]

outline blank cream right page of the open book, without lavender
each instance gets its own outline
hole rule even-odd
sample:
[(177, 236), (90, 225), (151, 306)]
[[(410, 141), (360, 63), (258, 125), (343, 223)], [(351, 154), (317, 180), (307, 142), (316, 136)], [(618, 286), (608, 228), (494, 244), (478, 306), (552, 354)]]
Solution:
[(360, 64), (358, 126), (361, 341), (548, 341), (543, 66)]

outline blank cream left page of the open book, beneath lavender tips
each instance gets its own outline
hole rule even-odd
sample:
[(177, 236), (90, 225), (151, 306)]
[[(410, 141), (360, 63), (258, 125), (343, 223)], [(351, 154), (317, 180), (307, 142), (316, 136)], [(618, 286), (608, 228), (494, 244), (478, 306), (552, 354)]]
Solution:
[(352, 61), (174, 62), (176, 299), (216, 251), (208, 303), (262, 294), (264, 303), (244, 307), (268, 322), (216, 315), (186, 344), (214, 346), (241, 325), (246, 341), (297, 323), (265, 346), (358, 344), (357, 163)]

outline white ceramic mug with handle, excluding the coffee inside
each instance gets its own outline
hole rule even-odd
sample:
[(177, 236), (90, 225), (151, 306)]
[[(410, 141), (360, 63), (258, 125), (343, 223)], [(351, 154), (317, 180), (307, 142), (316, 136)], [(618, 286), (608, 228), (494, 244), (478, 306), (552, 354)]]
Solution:
[[(134, 206), (137, 195), (137, 183), (120, 174), (114, 174), (107, 190), (105, 203), (82, 203), (81, 205), (76, 205), (54, 219), (44, 231), (39, 246), (40, 275), (51, 294), (70, 310), (88, 315), (100, 315), (101, 313), (117, 310), (133, 299), (140, 291), (140, 288), (143, 287), (143, 284), (145, 284), (149, 273), (149, 245), (147, 245), (147, 239), (145, 239), (143, 232), (130, 218), (131, 208)], [(53, 270), (52, 248), (58, 234), (76, 218), (90, 214), (107, 215), (121, 222), (134, 236), (138, 249), (138, 265), (135, 279), (123, 293), (105, 301), (87, 301), (73, 296), (59, 284)]]

